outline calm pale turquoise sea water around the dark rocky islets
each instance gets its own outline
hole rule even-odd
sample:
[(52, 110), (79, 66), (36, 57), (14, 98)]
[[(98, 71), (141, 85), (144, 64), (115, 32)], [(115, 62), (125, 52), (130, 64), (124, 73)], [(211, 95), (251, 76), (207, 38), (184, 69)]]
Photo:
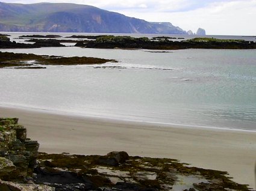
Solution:
[[(26, 35), (10, 34), (12, 39)], [(219, 37), (255, 40), (255, 37)], [(119, 120), (256, 130), (256, 50), (158, 52), (70, 46), (0, 51), (95, 56), (119, 61), (48, 66), (40, 70), (1, 69), (2, 106)]]

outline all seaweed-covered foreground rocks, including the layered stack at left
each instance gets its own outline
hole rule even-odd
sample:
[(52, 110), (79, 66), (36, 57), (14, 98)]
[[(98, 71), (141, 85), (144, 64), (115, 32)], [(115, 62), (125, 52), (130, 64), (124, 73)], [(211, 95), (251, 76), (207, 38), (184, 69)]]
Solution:
[(0, 118), (0, 190), (250, 190), (227, 173), (190, 167), (175, 159), (39, 153), (17, 118)]

